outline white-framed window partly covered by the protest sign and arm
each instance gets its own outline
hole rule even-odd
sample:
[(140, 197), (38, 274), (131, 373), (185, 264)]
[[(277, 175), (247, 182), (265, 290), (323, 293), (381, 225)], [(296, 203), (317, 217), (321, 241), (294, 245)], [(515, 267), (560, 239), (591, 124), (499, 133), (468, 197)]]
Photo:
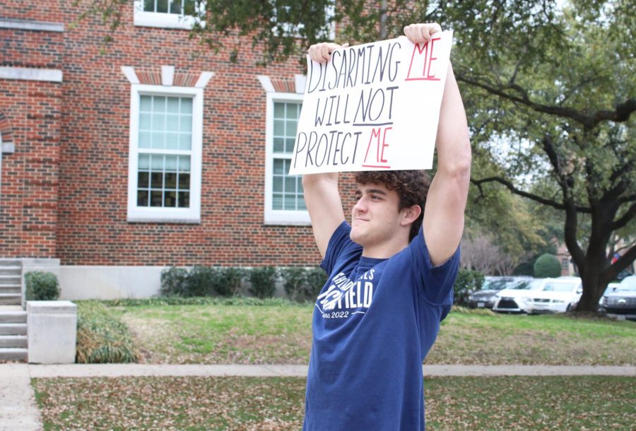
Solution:
[(265, 223), (307, 225), (309, 213), (302, 192), (302, 176), (288, 175), (302, 95), (267, 94)]

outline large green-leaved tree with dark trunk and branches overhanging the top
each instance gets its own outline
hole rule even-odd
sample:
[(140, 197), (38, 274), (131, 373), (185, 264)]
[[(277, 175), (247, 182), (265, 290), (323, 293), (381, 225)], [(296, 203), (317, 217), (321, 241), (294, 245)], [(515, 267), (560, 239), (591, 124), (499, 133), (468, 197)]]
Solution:
[[(90, 13), (117, 23), (121, 4), (90, 0)], [(571, 0), (563, 10), (555, 0), (341, 0), (338, 7), (334, 0), (207, 0), (206, 26), (192, 35), (213, 49), (228, 33), (249, 35), (264, 47), (266, 63), (328, 40), (334, 24), (338, 41), (352, 45), (399, 35), (413, 22), (453, 28), (473, 165), (488, 166), (472, 182), (483, 196), (500, 184), (564, 214), (563, 238), (583, 281), (577, 311), (593, 311), (607, 283), (636, 259), (632, 6), (632, 0)], [(625, 249), (611, 263), (617, 235)]]

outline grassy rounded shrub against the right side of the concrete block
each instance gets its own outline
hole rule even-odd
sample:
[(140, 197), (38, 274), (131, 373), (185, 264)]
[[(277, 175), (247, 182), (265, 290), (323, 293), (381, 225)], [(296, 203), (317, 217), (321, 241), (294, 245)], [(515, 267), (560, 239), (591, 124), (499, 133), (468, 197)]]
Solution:
[(139, 352), (126, 324), (100, 302), (77, 302), (76, 362), (105, 364), (138, 361)]

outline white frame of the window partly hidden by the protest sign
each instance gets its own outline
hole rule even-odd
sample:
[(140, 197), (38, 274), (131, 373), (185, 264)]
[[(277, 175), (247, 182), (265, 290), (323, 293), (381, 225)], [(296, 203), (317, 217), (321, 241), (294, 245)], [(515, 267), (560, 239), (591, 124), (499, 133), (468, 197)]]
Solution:
[[(273, 182), (273, 112), (274, 102), (302, 102), (303, 95), (298, 93), (267, 93), (266, 125), (265, 125), (265, 211), (264, 223), (266, 225), (311, 225), (309, 212), (292, 210), (274, 210), (272, 204)], [(291, 155), (289, 158), (291, 159)], [(281, 158), (276, 155), (276, 158)], [(304, 192), (303, 192), (304, 196)]]

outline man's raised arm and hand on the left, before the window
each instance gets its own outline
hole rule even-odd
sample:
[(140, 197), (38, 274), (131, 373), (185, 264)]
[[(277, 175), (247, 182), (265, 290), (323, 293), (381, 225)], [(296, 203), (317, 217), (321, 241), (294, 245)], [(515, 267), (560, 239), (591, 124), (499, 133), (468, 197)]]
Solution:
[[(319, 43), (312, 45), (308, 54), (312, 60), (324, 63), (331, 58), (331, 51), (339, 47), (335, 43)], [(321, 256), (324, 257), (331, 235), (345, 220), (338, 191), (338, 173), (303, 175), (302, 189), (307, 211), (312, 219), (314, 238)]]

